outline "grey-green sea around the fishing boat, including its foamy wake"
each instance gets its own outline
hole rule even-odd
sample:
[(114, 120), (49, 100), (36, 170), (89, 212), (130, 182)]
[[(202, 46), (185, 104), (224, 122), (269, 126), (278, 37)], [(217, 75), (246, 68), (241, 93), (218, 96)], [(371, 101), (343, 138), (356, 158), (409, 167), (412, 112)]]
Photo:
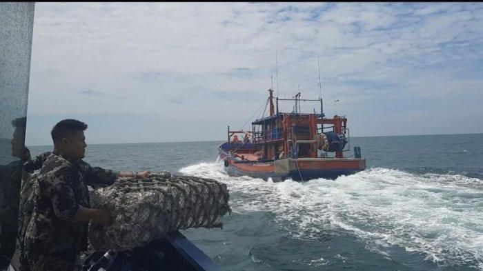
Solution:
[(84, 160), (226, 183), (224, 228), (181, 231), (222, 270), (483, 270), (483, 134), (353, 137), (365, 171), (282, 183), (228, 177), (219, 143), (88, 145)]

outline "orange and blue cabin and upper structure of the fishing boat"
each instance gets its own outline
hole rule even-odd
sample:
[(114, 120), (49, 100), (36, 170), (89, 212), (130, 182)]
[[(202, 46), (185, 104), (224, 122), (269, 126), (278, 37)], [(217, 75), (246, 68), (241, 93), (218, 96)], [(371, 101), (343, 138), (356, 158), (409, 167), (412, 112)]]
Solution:
[[(327, 152), (335, 152), (335, 158), (343, 158), (344, 149), (348, 143), (347, 119), (334, 116), (324, 118), (322, 99), (300, 99), (300, 92), (295, 99), (275, 98), (273, 90), (268, 90), (270, 96), (270, 115), (253, 121), (250, 132), (230, 131), (228, 126), (228, 141), (221, 144), (222, 150), (242, 161), (273, 162), (278, 159), (297, 158), (327, 158)], [(293, 111), (279, 112), (279, 101), (295, 101)], [(317, 101), (320, 112), (300, 112), (301, 101)], [(323, 150), (323, 151), (321, 151)]]

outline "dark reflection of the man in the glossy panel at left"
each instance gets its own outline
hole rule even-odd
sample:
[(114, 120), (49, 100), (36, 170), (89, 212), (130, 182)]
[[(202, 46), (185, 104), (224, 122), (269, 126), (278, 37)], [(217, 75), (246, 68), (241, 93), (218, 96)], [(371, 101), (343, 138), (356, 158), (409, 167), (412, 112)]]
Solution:
[(24, 145), (26, 118), (14, 119), (12, 157), (18, 160), (0, 165), (0, 270), (8, 268), (15, 252), (17, 218), (19, 214), (19, 192), (24, 161), (30, 159), (30, 152)]

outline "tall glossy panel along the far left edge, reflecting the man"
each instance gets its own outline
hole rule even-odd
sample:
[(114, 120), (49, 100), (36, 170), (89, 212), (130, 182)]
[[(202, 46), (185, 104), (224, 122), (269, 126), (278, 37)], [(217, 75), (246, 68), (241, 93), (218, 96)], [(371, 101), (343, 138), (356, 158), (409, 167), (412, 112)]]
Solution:
[[(30, 85), (30, 59), (35, 3), (0, 2), (0, 194), (20, 193), (27, 126), (28, 90)], [(15, 172), (15, 174), (12, 174)], [(4, 190), (6, 188), (6, 190)], [(11, 199), (11, 198), (7, 198)], [(3, 210), (15, 210), (18, 202), (3, 201)], [(17, 206), (16, 206), (17, 205)], [(18, 209), (17, 209), (18, 210)], [(2, 217), (3, 218), (3, 217)], [(16, 221), (18, 214), (9, 214), (6, 221)], [(1, 219), (3, 220), (3, 219)], [(0, 270), (17, 270), (15, 253), (16, 231), (8, 237), (6, 221), (0, 222)], [(9, 226), (9, 228), (12, 226)], [(3, 236), (8, 238), (3, 238)]]

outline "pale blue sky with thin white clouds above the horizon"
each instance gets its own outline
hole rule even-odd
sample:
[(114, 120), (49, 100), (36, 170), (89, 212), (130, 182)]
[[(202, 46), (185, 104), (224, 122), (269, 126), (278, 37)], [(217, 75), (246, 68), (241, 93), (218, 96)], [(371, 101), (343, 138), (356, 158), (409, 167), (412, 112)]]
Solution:
[(317, 61), (352, 137), (483, 132), (482, 3), (36, 3), (32, 40), (26, 145), (224, 140)]

